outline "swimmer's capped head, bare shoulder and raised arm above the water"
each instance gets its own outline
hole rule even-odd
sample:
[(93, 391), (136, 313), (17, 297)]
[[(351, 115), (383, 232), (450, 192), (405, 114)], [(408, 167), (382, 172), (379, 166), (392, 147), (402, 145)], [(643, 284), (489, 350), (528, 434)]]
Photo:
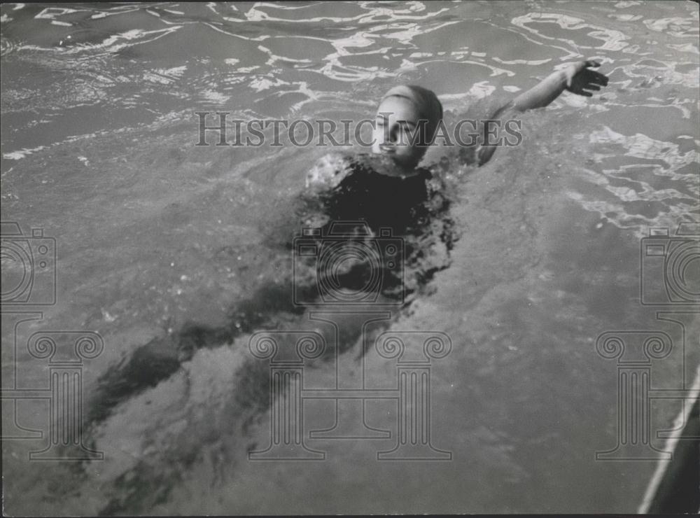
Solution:
[[(585, 60), (555, 71), (535, 87), (501, 106), (489, 120), (498, 120), (512, 111), (547, 106), (565, 90), (591, 97), (592, 92), (608, 85), (608, 77), (593, 70), (598, 66), (601, 66), (599, 62)], [(377, 109), (372, 153), (375, 159), (391, 159), (391, 167), (386, 167), (386, 161), (382, 166), (381, 160), (370, 159), (376, 172), (401, 179), (424, 173), (417, 166), (435, 140), (442, 115), (442, 104), (431, 90), (415, 85), (399, 85), (386, 92)], [(479, 146), (475, 157), (478, 165), (488, 162), (494, 151), (496, 146)], [(348, 160), (346, 155), (339, 153), (326, 155), (307, 175), (307, 188), (337, 187), (347, 174), (353, 172)], [(359, 160), (367, 162), (367, 157), (360, 157)]]

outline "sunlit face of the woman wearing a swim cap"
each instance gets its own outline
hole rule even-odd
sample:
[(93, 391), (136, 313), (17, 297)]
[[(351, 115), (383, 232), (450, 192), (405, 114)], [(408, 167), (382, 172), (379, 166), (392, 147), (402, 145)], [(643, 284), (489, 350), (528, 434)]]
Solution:
[[(407, 169), (416, 167), (426, 153), (426, 147), (417, 144), (419, 120), (416, 106), (408, 99), (396, 96), (384, 99), (377, 109), (372, 152), (391, 156)], [(411, 145), (412, 141), (416, 144)]]

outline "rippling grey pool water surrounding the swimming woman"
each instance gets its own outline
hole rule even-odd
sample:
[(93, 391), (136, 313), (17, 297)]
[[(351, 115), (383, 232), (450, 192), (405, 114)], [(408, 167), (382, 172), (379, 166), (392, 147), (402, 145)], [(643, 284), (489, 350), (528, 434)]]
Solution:
[[(55, 304), (3, 307), (3, 388), (47, 386), (24, 348), (34, 332), (102, 336), (83, 368), (88, 408), (144, 344), (172, 358), (183, 329), (207, 337), (86, 425), (104, 461), (28, 461), (43, 440), (3, 441), (10, 514), (636, 510), (654, 463), (596, 461), (618, 434), (617, 364), (596, 338), (668, 333), (652, 388), (687, 388), (699, 363), (697, 306), (643, 306), (639, 279), (648, 228), (699, 216), (696, 4), (3, 4), (1, 20), (2, 219), (43, 228), (57, 250)], [(451, 338), (430, 393), (431, 440), (451, 461), (377, 462), (395, 437), (310, 440), (323, 462), (248, 461), (269, 443), (267, 365), (248, 351), (260, 329), (207, 330), (235, 327), (231, 308), (288, 281), (294, 200), (328, 150), (197, 147), (195, 112), (365, 118), (404, 82), (458, 114), (587, 57), (610, 76), (603, 92), (524, 114), (522, 146), (449, 171), (449, 267), (374, 328)], [(3, 283), (16, 274), (3, 262)], [(685, 335), (657, 317), (681, 309)], [(41, 320), (15, 330), (19, 310)], [(329, 329), (286, 311), (273, 324)], [(345, 382), (365, 365), (391, 387), (390, 362), (343, 347)], [(332, 358), (314, 365), (307, 386), (335, 386)], [(332, 402), (304, 405), (309, 429), (333, 425)], [(366, 405), (370, 426), (392, 428), (391, 402)], [(654, 432), (681, 409), (650, 408)], [(20, 402), (18, 422), (48, 430), (47, 412)]]

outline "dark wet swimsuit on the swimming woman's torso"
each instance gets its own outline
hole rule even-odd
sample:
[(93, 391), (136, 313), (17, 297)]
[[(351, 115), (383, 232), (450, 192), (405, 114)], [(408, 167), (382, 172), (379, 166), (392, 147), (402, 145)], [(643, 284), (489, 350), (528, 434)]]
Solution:
[[(437, 175), (424, 168), (405, 178), (381, 174), (377, 170), (392, 165), (374, 155), (345, 156), (339, 163), (338, 170), (329, 175), (340, 175), (337, 181), (305, 198), (307, 218), (302, 221), (316, 222), (319, 246), (335, 239), (338, 228), (355, 243), (398, 239), (403, 245), (400, 267), (387, 267), (383, 257), (380, 262), (384, 279), (381, 293), (390, 298), (410, 295), (449, 265), (454, 224), (447, 217), (449, 199)], [(316, 268), (321, 278), (332, 274), (318, 269), (313, 261), (308, 265)], [(373, 271), (376, 267), (376, 261), (367, 260), (344, 272), (336, 282), (349, 289), (367, 286), (368, 279), (377, 273)]]

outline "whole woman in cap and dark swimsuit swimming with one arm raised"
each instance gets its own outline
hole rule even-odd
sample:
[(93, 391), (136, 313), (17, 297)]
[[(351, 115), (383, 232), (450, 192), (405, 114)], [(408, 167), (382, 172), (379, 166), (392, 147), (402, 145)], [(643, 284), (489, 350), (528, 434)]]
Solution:
[[(603, 74), (590, 70), (591, 66), (599, 64), (578, 62), (552, 73), (496, 110), (491, 118), (546, 106), (564, 90), (590, 97), (584, 89), (600, 90), (608, 82)], [(256, 328), (274, 329), (281, 321), (304, 313), (297, 294), (306, 304), (323, 304), (327, 302), (324, 295), (332, 296), (332, 290), (342, 296), (356, 294), (363, 300), (363, 292), (372, 289), (377, 293), (371, 295), (378, 297), (372, 301), (406, 307), (436, 272), (449, 266), (449, 251), (457, 239), (449, 218), (449, 189), (436, 167), (418, 167), (435, 139), (442, 116), (442, 104), (430, 90), (409, 85), (389, 90), (377, 110), (374, 154), (331, 153), (307, 174), (306, 190), (298, 197), (294, 216), (302, 227), (318, 230), (314, 235), (316, 253), (301, 258), (300, 269), (286, 272), (283, 281), (262, 283), (232, 309), (227, 325), (186, 325), (175, 335), (139, 347), (131, 358), (100, 379), (90, 421), (101, 421), (120, 401), (169, 377), (197, 349), (230, 343)], [(486, 144), (482, 141), (470, 150), (473, 153), (461, 156), (475, 158), (482, 165), (495, 151)], [(341, 245), (351, 251), (344, 258), (341, 249), (339, 262), (319, 262), (318, 251), (324, 243), (329, 239), (337, 242), (334, 225), (339, 222), (344, 223)], [(395, 260), (387, 259), (377, 248), (381, 239), (400, 241), (402, 252)], [(353, 252), (358, 246), (379, 252)], [(377, 277), (379, 283), (373, 281)], [(359, 336), (360, 330), (349, 323), (344, 330), (345, 343), (339, 347), (352, 346)], [(264, 402), (261, 405), (265, 407)]]

